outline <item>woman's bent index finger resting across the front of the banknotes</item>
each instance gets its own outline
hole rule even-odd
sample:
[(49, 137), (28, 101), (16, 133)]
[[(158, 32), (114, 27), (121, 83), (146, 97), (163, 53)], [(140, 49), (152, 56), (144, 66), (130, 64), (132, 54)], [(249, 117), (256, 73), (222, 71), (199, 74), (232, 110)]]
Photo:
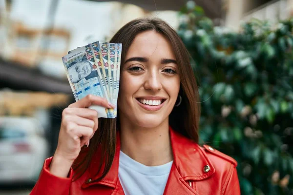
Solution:
[(82, 98), (81, 100), (70, 104), (68, 107), (70, 108), (88, 108), (92, 104), (103, 106), (105, 108), (115, 108), (113, 104), (108, 102), (105, 98), (94, 96), (94, 95), (87, 95), (86, 97)]

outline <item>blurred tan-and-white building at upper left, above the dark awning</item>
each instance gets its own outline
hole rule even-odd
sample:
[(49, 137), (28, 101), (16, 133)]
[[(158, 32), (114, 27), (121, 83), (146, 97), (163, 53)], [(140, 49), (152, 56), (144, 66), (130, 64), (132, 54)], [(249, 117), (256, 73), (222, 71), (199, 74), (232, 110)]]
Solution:
[(60, 60), (67, 53), (70, 32), (66, 29), (34, 29), (12, 21), (8, 31), (2, 53), (6, 60), (36, 67), (43, 59)]

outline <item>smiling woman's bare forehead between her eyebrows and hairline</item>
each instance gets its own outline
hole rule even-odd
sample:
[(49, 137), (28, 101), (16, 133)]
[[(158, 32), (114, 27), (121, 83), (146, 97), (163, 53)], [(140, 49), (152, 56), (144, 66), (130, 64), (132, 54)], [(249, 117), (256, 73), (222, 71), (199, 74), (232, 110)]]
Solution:
[(126, 59), (131, 57), (175, 59), (169, 40), (154, 31), (139, 33), (134, 38), (126, 54)]

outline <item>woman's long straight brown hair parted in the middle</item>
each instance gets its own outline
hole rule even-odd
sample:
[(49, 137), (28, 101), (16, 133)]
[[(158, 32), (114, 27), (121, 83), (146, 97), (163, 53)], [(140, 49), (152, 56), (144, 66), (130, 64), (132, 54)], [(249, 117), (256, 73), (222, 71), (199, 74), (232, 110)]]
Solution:
[[(169, 124), (177, 132), (198, 143), (198, 126), (200, 117), (200, 104), (198, 87), (191, 65), (190, 55), (177, 35), (176, 31), (167, 22), (160, 19), (136, 19), (124, 25), (110, 40), (111, 43), (122, 43), (121, 66), (123, 65), (128, 48), (133, 39), (141, 32), (155, 31), (165, 36), (171, 43), (180, 75), (179, 95), (182, 97), (180, 106), (174, 107), (169, 115)], [(118, 105), (119, 109), (119, 105)], [(101, 160), (98, 173), (102, 173), (100, 180), (108, 173), (115, 155), (116, 131), (119, 128), (117, 118), (99, 118), (99, 127), (90, 141), (86, 152), (81, 151), (73, 164), (74, 178), (78, 179), (89, 166), (93, 154), (99, 150)], [(102, 164), (105, 163), (102, 170)]]

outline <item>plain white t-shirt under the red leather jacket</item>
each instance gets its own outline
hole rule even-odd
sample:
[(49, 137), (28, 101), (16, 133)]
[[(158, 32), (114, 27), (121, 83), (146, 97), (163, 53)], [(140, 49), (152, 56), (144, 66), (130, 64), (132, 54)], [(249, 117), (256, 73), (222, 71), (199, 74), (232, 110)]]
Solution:
[(149, 167), (120, 151), (118, 176), (125, 195), (163, 195), (172, 163)]

